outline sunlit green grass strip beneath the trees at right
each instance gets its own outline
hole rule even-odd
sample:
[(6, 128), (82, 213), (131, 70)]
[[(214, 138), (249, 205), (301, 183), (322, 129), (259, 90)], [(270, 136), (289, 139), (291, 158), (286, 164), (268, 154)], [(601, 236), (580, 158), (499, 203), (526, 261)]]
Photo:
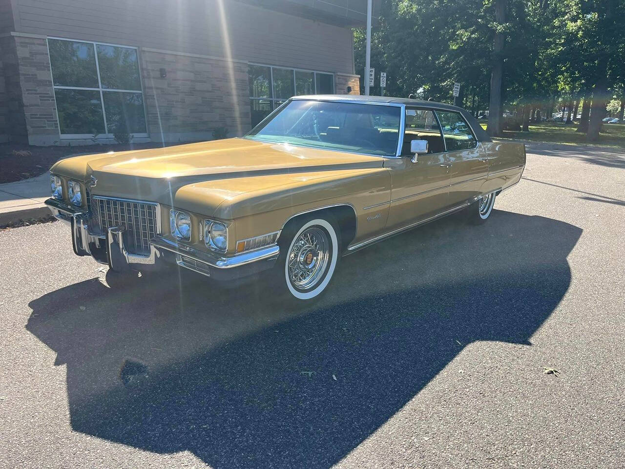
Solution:
[[(480, 123), (486, 129), (486, 123)], [(529, 132), (504, 130), (503, 139), (528, 140), (532, 142), (562, 143), (565, 145), (596, 145), (625, 148), (625, 124), (604, 124), (599, 141), (586, 141), (586, 134), (577, 133), (577, 124), (544, 122), (529, 126)]]

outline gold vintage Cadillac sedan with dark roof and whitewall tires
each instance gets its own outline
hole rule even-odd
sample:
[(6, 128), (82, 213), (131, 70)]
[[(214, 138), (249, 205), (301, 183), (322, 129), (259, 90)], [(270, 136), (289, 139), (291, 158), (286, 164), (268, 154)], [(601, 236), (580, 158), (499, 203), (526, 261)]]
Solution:
[(113, 271), (271, 270), (311, 300), (341, 256), (454, 211), (483, 223), (525, 161), (522, 144), (493, 143), (455, 106), (298, 96), (242, 138), (63, 159), (46, 204), (74, 253)]

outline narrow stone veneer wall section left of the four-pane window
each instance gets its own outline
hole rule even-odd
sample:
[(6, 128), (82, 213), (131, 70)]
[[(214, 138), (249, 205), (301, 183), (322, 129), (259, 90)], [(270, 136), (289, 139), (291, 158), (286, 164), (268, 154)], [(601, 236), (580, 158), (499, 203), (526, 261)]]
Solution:
[[(59, 143), (59, 123), (46, 39), (14, 36), (21, 106), (31, 145)], [(6, 64), (5, 64), (6, 68)], [(16, 114), (17, 116), (17, 114)]]

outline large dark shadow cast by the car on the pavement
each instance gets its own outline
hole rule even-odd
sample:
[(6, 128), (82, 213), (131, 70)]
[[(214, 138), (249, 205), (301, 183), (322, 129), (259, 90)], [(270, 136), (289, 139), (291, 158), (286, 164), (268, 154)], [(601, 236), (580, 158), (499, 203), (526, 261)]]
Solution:
[(214, 468), (327, 467), (464, 346), (531, 345), (561, 301), (581, 229), (493, 215), (347, 256), (307, 309), (266, 301), (272, 291), (257, 283), (219, 291), (174, 271), (135, 288), (96, 278), (44, 295), (27, 330), (67, 365), (73, 430), (189, 450)]

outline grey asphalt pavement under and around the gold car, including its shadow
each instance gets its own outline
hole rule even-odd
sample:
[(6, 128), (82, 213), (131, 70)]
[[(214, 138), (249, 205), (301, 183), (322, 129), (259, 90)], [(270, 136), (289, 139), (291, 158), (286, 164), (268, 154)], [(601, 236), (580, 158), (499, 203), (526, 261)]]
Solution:
[(347, 256), (303, 310), (0, 232), (0, 467), (624, 467), (625, 153), (527, 152), (488, 223)]

